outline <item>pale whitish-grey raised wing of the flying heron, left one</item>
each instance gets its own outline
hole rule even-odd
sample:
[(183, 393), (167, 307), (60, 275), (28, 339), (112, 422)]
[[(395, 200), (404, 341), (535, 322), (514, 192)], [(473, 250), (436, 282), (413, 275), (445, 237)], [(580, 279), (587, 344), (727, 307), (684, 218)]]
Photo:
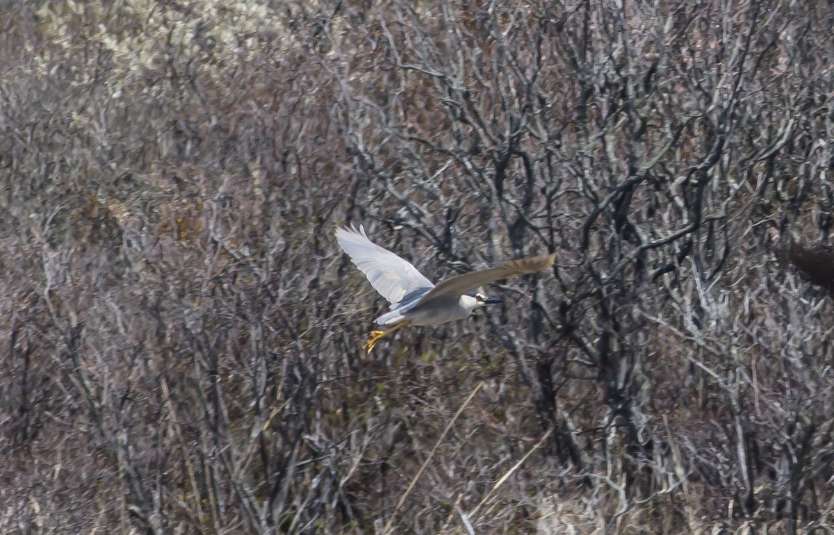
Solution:
[(388, 300), (399, 303), (406, 293), (417, 288), (435, 288), (431, 281), (404, 258), (379, 247), (368, 239), (364, 228), (337, 228), (336, 241), (348, 253), (354, 265), (374, 290)]

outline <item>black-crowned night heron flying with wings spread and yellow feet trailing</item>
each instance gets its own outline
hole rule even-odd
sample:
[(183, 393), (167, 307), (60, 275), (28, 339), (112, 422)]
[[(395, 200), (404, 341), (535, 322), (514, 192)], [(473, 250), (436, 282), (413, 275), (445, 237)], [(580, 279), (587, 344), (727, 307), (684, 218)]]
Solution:
[(407, 260), (371, 242), (361, 226), (359, 230), (337, 228), (336, 241), (374, 290), (391, 303), (390, 310), (376, 318), (376, 323), (391, 328), (370, 333), (370, 339), (362, 346), (368, 353), (380, 338), (406, 325), (433, 327), (466, 318), (486, 305), (501, 303), (500, 299), (488, 298), (475, 289), (500, 278), (545, 270), (556, 260), (555, 254), (518, 258), (495, 268), (447, 278), (435, 286)]

